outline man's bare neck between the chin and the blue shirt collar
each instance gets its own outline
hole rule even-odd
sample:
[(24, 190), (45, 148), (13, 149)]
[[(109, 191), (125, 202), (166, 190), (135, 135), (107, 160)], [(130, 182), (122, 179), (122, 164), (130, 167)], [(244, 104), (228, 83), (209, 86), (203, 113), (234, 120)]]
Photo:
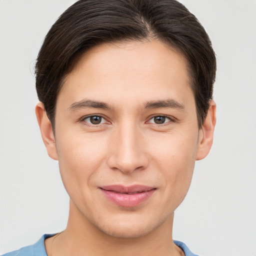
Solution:
[(55, 239), (52, 238), (52, 243), (45, 243), (46, 252), (50, 256), (183, 255), (182, 250), (173, 243), (172, 223), (173, 213), (146, 235), (132, 238), (113, 237), (89, 222), (70, 202), (67, 227)]

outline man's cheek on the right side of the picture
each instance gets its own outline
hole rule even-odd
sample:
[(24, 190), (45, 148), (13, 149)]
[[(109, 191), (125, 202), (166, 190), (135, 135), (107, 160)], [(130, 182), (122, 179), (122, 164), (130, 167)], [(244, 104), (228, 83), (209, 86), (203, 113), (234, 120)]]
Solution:
[[(197, 131), (183, 134), (167, 134), (165, 139), (155, 140), (151, 156), (156, 163), (165, 187), (183, 196), (190, 185), (196, 149)], [(179, 192), (178, 192), (179, 191)], [(183, 191), (183, 192), (182, 192)]]

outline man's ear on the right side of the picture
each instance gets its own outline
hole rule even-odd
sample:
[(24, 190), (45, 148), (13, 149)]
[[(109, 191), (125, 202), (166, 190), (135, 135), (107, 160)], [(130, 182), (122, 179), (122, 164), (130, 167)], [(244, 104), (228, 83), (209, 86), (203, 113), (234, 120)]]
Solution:
[(210, 151), (213, 132), (216, 124), (216, 103), (214, 100), (209, 102), (209, 108), (202, 127), (199, 130), (199, 139), (196, 152), (196, 160), (203, 159)]

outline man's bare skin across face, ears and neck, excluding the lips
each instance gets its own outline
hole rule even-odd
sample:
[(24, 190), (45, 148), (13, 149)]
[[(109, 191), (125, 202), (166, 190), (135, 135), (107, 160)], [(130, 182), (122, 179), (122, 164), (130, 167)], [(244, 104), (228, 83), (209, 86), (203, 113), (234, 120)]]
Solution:
[[(189, 83), (185, 58), (163, 42), (105, 43), (87, 51), (65, 78), (55, 134), (37, 104), (44, 144), (59, 161), (70, 196), (66, 229), (45, 240), (49, 256), (183, 254), (172, 241), (173, 214), (195, 160), (210, 150), (215, 126), (212, 100), (198, 128)], [(161, 104), (145, 107), (154, 101)], [(101, 116), (101, 123), (88, 115)], [(155, 123), (156, 116), (164, 122)], [(110, 184), (156, 189), (143, 203), (122, 207), (99, 189)]]

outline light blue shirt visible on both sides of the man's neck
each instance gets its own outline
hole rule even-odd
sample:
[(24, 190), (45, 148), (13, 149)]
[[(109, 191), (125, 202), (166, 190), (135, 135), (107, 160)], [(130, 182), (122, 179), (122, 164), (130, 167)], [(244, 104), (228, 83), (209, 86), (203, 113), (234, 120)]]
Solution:
[[(54, 234), (44, 234), (36, 243), (5, 253), (2, 256), (47, 256), (44, 240), (52, 235)], [(193, 254), (183, 242), (174, 240), (174, 243), (184, 251), (185, 256), (198, 256)]]

